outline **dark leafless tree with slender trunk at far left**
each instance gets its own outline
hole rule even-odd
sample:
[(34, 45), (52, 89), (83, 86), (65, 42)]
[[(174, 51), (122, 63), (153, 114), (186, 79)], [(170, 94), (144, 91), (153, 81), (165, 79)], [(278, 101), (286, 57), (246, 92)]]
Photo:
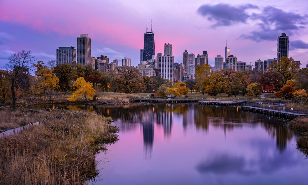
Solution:
[(5, 67), (8, 69), (9, 79), (11, 83), (11, 91), (12, 91), (12, 99), (13, 99), (13, 107), (16, 109), (16, 94), (15, 88), (18, 88), (17, 82), (18, 80), (22, 80), (25, 77), (26, 73), (34, 64), (34, 56), (31, 55), (31, 51), (24, 51), (14, 53), (9, 56), (8, 62), (5, 64)]

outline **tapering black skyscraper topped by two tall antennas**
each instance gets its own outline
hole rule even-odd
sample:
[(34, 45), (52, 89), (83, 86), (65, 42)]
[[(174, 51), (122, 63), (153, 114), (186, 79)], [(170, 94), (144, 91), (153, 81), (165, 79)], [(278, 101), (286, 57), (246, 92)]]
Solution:
[(144, 45), (143, 45), (143, 61), (152, 59), (152, 55), (155, 55), (155, 42), (154, 33), (151, 24), (151, 31), (148, 32), (148, 17), (147, 17), (147, 32), (144, 34)]

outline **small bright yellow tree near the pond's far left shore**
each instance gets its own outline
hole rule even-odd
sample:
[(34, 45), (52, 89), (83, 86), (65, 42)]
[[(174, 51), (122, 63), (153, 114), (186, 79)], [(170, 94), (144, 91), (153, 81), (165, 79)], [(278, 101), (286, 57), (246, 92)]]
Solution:
[(92, 88), (92, 84), (90, 82), (86, 82), (83, 77), (77, 78), (74, 83), (74, 88), (76, 90), (73, 92), (72, 96), (67, 99), (68, 101), (93, 100), (95, 90)]

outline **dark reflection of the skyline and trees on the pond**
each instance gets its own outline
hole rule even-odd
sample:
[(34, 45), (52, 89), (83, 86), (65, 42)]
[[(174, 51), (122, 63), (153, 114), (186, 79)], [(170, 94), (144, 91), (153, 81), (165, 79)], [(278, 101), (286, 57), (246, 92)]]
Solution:
[[(33, 108), (37, 108), (35, 105)], [(53, 105), (41, 105), (51, 106)], [(95, 111), (96, 114), (111, 116), (114, 121), (126, 122), (128, 124), (117, 124), (121, 132), (136, 130), (138, 123), (143, 127), (144, 150), (146, 158), (152, 156), (154, 145), (154, 125), (162, 125), (164, 138), (170, 139), (172, 136), (172, 124), (174, 116), (182, 120), (183, 131), (187, 130), (189, 124), (194, 124), (197, 130), (207, 133), (209, 125), (214, 128), (224, 130), (224, 137), (227, 139), (228, 133), (234, 128), (242, 128), (243, 125), (257, 127), (261, 125), (267, 133), (276, 139), (276, 146), (280, 152), (286, 148), (287, 141), (293, 138), (294, 132), (283, 126), (286, 121), (261, 116), (253, 113), (241, 112), (239, 107), (216, 107), (201, 106), (197, 104), (130, 104), (130, 105), (56, 105), (58, 108), (74, 110)], [(31, 107), (30, 107), (31, 108)], [(41, 107), (42, 108), (42, 107)], [(179, 123), (176, 123), (179, 124)], [(298, 135), (298, 134), (297, 134)]]

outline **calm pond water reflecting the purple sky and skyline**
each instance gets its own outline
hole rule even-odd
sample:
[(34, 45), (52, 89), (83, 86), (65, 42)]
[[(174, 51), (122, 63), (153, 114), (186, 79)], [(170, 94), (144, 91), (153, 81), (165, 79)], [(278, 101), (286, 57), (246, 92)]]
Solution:
[(308, 183), (301, 133), (281, 119), (197, 104), (63, 106), (111, 116), (120, 128), (120, 141), (96, 157), (97, 185)]

